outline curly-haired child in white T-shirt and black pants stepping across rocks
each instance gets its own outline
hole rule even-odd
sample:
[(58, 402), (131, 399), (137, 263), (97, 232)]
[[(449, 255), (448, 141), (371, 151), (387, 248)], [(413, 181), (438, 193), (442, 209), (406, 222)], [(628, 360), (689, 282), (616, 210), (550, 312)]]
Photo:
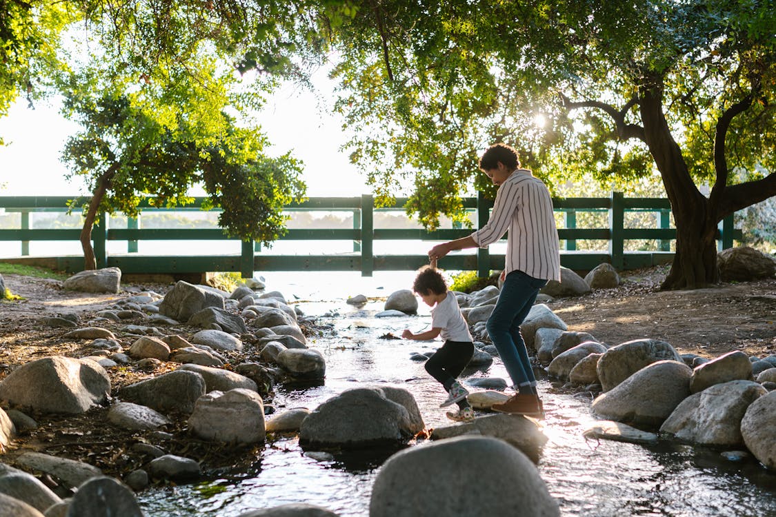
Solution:
[(456, 295), (448, 290), (444, 277), (435, 268), (435, 262), (433, 260), (431, 266), (422, 267), (412, 285), (413, 291), (431, 307), (431, 330), (414, 334), (410, 329), (406, 329), (401, 336), (404, 339), (426, 340), (441, 335), (442, 339), (445, 339), (442, 348), (426, 361), (426, 371), (441, 382), (449, 394), (439, 407), (458, 404), (459, 410), (448, 412), (448, 418), (458, 422), (471, 422), (474, 419), (474, 412), (466, 400), (469, 391), (456, 381), (456, 377), (472, 359), (474, 343), (469, 333), (469, 326), (458, 307)]

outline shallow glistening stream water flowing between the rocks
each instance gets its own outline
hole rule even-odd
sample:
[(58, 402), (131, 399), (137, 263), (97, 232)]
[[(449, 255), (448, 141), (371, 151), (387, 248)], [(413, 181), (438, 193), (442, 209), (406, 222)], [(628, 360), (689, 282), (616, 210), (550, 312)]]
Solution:
[[(390, 293), (390, 291), (388, 291)], [(374, 293), (365, 292), (366, 295)], [(334, 325), (332, 337), (310, 339), (310, 346), (326, 357), (324, 384), (311, 388), (278, 387), (272, 401), (285, 408), (315, 408), (331, 396), (365, 384), (389, 383), (411, 391), (426, 426), (447, 426), (442, 388), (424, 370), (409, 360), (410, 353), (433, 350), (441, 343), (381, 339), (385, 333), (399, 335), (430, 323), (428, 308), (417, 316), (377, 319), (373, 315), (383, 302), (353, 308), (342, 302), (302, 302), (308, 315), (336, 311), (323, 322)], [(465, 372), (467, 377), (504, 377), (496, 358), (487, 369)], [(562, 515), (776, 515), (776, 474), (756, 460), (732, 462), (719, 451), (661, 442), (654, 446), (586, 440), (582, 431), (594, 418), (591, 400), (584, 395), (547, 393), (542, 380), (549, 437), (539, 460), (539, 474), (558, 501)], [(419, 446), (422, 446), (419, 445)], [(255, 508), (290, 502), (307, 502), (329, 508), (339, 515), (369, 515), (372, 484), (390, 453), (308, 456), (296, 438), (279, 439), (264, 446), (255, 459), (233, 472), (212, 473), (210, 481), (140, 493), (147, 515), (218, 515), (231, 517)]]

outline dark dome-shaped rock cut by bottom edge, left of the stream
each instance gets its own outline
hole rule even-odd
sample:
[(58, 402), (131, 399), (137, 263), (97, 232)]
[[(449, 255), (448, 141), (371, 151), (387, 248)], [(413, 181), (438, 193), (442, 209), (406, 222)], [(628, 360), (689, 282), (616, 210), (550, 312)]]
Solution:
[(94, 477), (86, 481), (70, 501), (67, 517), (144, 517), (135, 496), (125, 484), (113, 477)]

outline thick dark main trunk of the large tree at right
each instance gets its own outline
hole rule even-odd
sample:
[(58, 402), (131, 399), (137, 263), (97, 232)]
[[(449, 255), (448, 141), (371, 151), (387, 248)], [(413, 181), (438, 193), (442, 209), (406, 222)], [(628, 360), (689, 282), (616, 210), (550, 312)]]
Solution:
[(663, 115), (662, 81), (651, 78), (639, 92), (644, 140), (663, 178), (677, 228), (674, 263), (661, 289), (695, 289), (719, 281), (715, 214), (698, 191)]

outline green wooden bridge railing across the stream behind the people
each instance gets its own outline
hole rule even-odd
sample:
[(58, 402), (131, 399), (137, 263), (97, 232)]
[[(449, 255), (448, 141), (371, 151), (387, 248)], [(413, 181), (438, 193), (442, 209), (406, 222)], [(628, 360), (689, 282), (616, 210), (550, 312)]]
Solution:
[[(29, 255), (29, 243), (35, 241), (73, 241), (78, 243), (80, 229), (33, 228), (30, 215), (36, 212), (66, 212), (68, 197), (0, 197), (0, 211), (19, 212), (19, 228), (0, 228), (0, 242), (17, 241), (21, 256)], [(140, 215), (149, 212), (202, 212), (204, 198), (196, 198), (192, 205), (175, 209), (154, 209), (141, 205)], [(352, 252), (278, 254), (262, 250), (252, 241), (241, 241), (239, 253), (178, 253), (140, 254), (139, 242), (151, 241), (237, 241), (230, 239), (220, 228), (142, 228), (140, 220), (126, 219), (125, 228), (110, 227), (106, 214), (92, 229), (92, 246), (98, 267), (116, 266), (124, 273), (136, 274), (192, 274), (206, 271), (239, 271), (244, 277), (254, 271), (359, 271), (371, 276), (374, 271), (406, 271), (428, 263), (424, 252), (403, 253), (407, 241), (443, 241), (467, 236), (472, 229), (445, 228), (433, 232), (418, 228), (379, 228), (375, 215), (379, 212), (404, 208), (406, 199), (399, 198), (395, 205), (376, 209), (371, 195), (352, 198), (310, 198), (307, 202), (289, 205), (287, 212), (348, 212), (352, 228), (290, 228), (282, 241), (352, 241)], [(577, 271), (588, 271), (603, 262), (618, 271), (663, 264), (670, 261), (670, 243), (676, 239), (676, 229), (670, 226), (670, 204), (664, 198), (625, 198), (612, 192), (609, 198), (556, 198), (553, 205), (558, 213), (558, 236), (562, 243), (561, 264)], [(472, 213), (473, 226), (482, 227), (490, 215), (493, 202), (483, 198), (464, 198), (463, 207)], [(212, 211), (211, 211), (212, 212)], [(606, 226), (577, 228), (578, 216), (587, 212), (604, 212)], [(629, 212), (653, 212), (656, 225), (629, 227), (625, 215)], [(740, 239), (740, 229), (733, 228), (733, 216), (720, 224), (717, 235), (720, 249), (733, 246)], [(598, 250), (578, 250), (577, 241), (593, 240), (605, 243)], [(629, 241), (654, 240), (654, 250), (630, 250)], [(108, 253), (108, 243), (125, 241), (127, 253)], [(396, 243), (391, 253), (376, 254), (375, 243)], [(208, 250), (217, 247), (208, 245)], [(428, 247), (431, 247), (429, 245)], [(605, 248), (605, 249), (603, 249)], [(396, 253), (398, 252), (398, 253)], [(78, 255), (58, 256), (54, 253), (55, 267), (61, 271), (81, 271), (83, 258)], [(439, 266), (448, 270), (477, 271), (487, 276), (491, 270), (503, 267), (504, 255), (488, 249), (475, 252), (452, 253), (440, 260)]]

